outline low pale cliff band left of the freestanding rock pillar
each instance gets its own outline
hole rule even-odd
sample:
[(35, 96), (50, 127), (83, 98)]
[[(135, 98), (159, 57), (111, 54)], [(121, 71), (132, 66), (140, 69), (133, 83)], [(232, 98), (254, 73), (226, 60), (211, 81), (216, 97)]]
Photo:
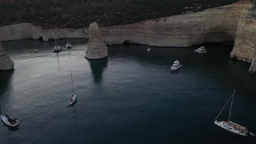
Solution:
[(31, 25), (31, 23), (0, 27), (0, 41), (40, 38), (48, 41), (49, 39), (66, 39), (67, 37), (88, 38), (88, 29), (42, 29)]

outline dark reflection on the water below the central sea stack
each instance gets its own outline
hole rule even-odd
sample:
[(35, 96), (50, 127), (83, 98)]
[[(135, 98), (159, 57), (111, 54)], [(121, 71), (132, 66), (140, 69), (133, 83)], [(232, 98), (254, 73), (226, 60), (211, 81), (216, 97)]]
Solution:
[(103, 79), (103, 72), (108, 66), (108, 58), (104, 58), (98, 61), (89, 60), (91, 67), (91, 75), (94, 83), (101, 85)]

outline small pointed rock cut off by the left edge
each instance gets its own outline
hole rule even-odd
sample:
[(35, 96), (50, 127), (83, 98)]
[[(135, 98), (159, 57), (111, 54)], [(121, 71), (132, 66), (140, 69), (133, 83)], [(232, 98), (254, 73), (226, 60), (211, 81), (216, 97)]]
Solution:
[(0, 42), (0, 71), (13, 70), (13, 67), (13, 61), (11, 61), (10, 57), (4, 52), (4, 48)]

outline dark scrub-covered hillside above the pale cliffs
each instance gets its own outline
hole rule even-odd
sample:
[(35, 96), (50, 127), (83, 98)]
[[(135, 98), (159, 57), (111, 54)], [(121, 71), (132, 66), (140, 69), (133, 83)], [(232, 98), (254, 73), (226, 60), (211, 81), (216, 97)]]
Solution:
[(0, 26), (31, 22), (43, 28), (123, 25), (238, 0), (0, 0)]

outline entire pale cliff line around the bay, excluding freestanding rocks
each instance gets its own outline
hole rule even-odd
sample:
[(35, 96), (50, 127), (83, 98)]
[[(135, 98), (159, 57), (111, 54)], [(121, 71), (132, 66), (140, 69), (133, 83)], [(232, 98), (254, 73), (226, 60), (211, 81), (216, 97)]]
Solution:
[[(189, 47), (203, 43), (234, 42), (230, 57), (252, 63), (256, 73), (255, 5), (240, 1), (199, 13), (174, 15), (129, 25), (100, 28), (102, 40), (108, 44), (149, 44), (152, 46)], [(256, 14), (255, 14), (256, 15)], [(30, 23), (0, 27), (0, 40), (89, 38), (88, 28), (42, 29)], [(102, 43), (101, 43), (102, 45)]]

